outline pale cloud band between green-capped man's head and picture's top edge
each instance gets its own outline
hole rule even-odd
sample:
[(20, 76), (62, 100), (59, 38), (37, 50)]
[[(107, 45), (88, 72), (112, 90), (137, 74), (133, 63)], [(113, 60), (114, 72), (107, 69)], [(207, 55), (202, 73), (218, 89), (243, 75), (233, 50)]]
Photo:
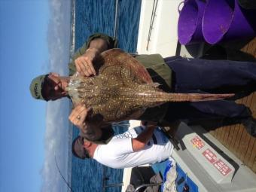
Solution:
[(48, 49), (50, 55), (49, 70), (61, 75), (68, 73), (71, 2), (50, 0), (50, 20), (48, 24)]

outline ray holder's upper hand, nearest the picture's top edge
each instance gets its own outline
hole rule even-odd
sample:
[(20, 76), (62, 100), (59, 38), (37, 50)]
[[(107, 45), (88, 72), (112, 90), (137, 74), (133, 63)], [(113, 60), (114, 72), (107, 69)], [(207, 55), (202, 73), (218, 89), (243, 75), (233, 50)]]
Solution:
[(96, 48), (88, 48), (84, 55), (75, 59), (75, 67), (80, 75), (90, 77), (96, 75), (93, 67), (93, 59), (99, 54), (99, 50)]

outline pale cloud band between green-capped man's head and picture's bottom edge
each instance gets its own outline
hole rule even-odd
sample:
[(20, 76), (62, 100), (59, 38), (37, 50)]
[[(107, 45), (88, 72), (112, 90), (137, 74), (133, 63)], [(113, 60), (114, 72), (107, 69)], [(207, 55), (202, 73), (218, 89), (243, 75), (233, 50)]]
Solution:
[(72, 129), (69, 124), (69, 101), (60, 99), (47, 104), (47, 123), (45, 131), (45, 160), (42, 169), (42, 191), (65, 191), (67, 186), (63, 181), (59, 169), (70, 184), (70, 145), (72, 142)]

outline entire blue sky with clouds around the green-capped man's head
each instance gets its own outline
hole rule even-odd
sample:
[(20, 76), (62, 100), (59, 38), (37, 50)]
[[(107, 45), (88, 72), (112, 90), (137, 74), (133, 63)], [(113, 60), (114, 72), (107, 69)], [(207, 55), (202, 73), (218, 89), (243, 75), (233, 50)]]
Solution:
[(67, 74), (69, 0), (0, 0), (0, 191), (65, 191), (69, 101), (32, 99), (32, 78)]

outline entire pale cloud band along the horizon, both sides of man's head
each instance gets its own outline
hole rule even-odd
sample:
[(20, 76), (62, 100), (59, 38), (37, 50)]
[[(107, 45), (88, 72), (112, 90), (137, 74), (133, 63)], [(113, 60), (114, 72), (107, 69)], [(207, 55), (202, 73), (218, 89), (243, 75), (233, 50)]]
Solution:
[[(71, 26), (71, 1), (49, 0), (48, 23), (49, 72), (68, 74)], [(71, 181), (72, 126), (69, 124), (69, 99), (47, 103), (44, 139), (44, 166), (41, 169), (42, 191), (69, 191), (55, 163), (67, 181)]]

